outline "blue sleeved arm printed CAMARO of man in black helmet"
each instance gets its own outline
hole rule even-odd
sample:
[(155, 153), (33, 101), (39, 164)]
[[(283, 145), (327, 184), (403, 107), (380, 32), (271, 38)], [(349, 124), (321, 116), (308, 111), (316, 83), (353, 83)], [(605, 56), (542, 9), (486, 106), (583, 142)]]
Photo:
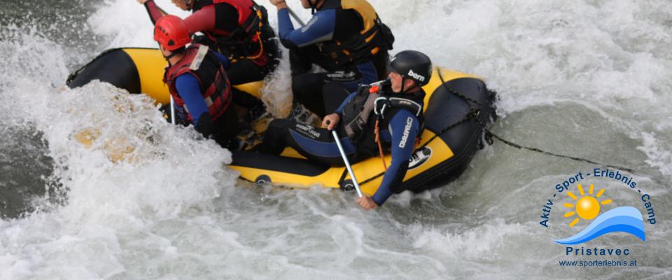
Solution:
[(392, 195), (393, 188), (402, 183), (408, 169), (408, 160), (413, 155), (415, 137), (420, 130), (420, 122), (407, 110), (399, 110), (390, 120), (392, 133), (392, 162), (376, 193), (371, 197), (379, 206)]

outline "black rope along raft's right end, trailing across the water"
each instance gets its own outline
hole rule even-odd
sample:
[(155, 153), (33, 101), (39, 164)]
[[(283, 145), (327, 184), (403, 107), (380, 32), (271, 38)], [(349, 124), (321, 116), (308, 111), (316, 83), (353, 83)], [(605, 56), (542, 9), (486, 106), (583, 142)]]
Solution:
[[(429, 145), (432, 141), (434, 141), (434, 139), (436, 139), (437, 137), (440, 137), (442, 134), (444, 134), (445, 132), (448, 132), (452, 128), (454, 128), (458, 125), (461, 125), (462, 123), (466, 123), (469, 120), (473, 119), (484, 130), (484, 138), (485, 138), (485, 141), (487, 142), (487, 144), (489, 144), (489, 145), (493, 144), (492, 139), (494, 138), (494, 139), (497, 139), (497, 140), (501, 141), (503, 144), (506, 144), (508, 146), (512, 146), (512, 147), (517, 148), (519, 150), (524, 149), (524, 150), (527, 150), (527, 151), (542, 153), (544, 155), (552, 155), (552, 156), (557, 157), (557, 158), (566, 158), (566, 159), (569, 159), (569, 160), (575, 160), (577, 162), (587, 162), (591, 165), (601, 165), (601, 166), (605, 166), (605, 167), (611, 167), (611, 168), (615, 168), (615, 169), (624, 170), (626, 172), (636, 173), (633, 169), (630, 169), (630, 168), (627, 168), (627, 167), (621, 167), (621, 166), (618, 166), (618, 165), (605, 165), (603, 163), (594, 162), (592, 160), (587, 160), (585, 158), (578, 158), (578, 157), (573, 157), (573, 156), (570, 156), (570, 155), (561, 155), (561, 154), (557, 154), (557, 153), (551, 153), (551, 152), (548, 152), (548, 151), (544, 151), (540, 148), (523, 146), (523, 145), (515, 144), (512, 141), (508, 141), (506, 139), (503, 139), (502, 137), (498, 136), (497, 134), (494, 134), (491, 130), (489, 130), (489, 128), (486, 127), (486, 125), (479, 118), (480, 113), (481, 113), (481, 109), (483, 108), (483, 106), (480, 104), (480, 102), (478, 102), (477, 100), (472, 99), (468, 96), (465, 96), (464, 94), (461, 94), (460, 92), (457, 92), (456, 90), (452, 90), (450, 87), (448, 87), (448, 85), (446, 84), (446, 81), (444, 80), (444, 78), (441, 74), (441, 69), (439, 69), (438, 74), (439, 74), (439, 78), (441, 79), (442, 86), (448, 92), (450, 92), (451, 94), (454, 94), (457, 97), (460, 97), (461, 99), (464, 99), (468, 103), (471, 102), (473, 104), (476, 104), (476, 106), (471, 107), (470, 111), (464, 116), (463, 119), (458, 120), (456, 123), (452, 123), (451, 125), (448, 125), (443, 130), (440, 130), (439, 132), (434, 134), (434, 136), (431, 137), (429, 140), (427, 140), (424, 144), (422, 144), (422, 146), (420, 146), (419, 148), (416, 148), (413, 153), (417, 153), (418, 151), (421, 151), (423, 148), (425, 148), (427, 145)], [(489, 90), (489, 92), (490, 92), (491, 97), (494, 97), (497, 94), (497, 92), (494, 91), (494, 90)], [(385, 174), (385, 172), (380, 172), (379, 174), (377, 174), (377, 175), (375, 175), (375, 176), (373, 176), (369, 179), (366, 179), (366, 180), (360, 182), (359, 184), (364, 185), (365, 183), (369, 183), (370, 181), (374, 181), (375, 179), (378, 179), (380, 176), (383, 176), (384, 174)]]

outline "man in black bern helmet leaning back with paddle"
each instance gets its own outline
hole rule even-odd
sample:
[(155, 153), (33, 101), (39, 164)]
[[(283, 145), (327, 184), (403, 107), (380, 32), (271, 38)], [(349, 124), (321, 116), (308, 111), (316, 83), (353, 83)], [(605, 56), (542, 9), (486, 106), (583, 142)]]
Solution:
[[(424, 118), (423, 85), (429, 83), (432, 62), (421, 52), (406, 50), (391, 59), (388, 80), (360, 87), (341, 106), (325, 116), (323, 128), (273, 120), (264, 141), (256, 151), (279, 155), (286, 146), (318, 162), (343, 165), (330, 130), (337, 130), (346, 155), (355, 163), (389, 151), (392, 162), (378, 190), (372, 197), (360, 197), (364, 209), (382, 205), (402, 183), (420, 137)], [(382, 156), (381, 156), (382, 158)], [(386, 162), (383, 161), (386, 165)]]

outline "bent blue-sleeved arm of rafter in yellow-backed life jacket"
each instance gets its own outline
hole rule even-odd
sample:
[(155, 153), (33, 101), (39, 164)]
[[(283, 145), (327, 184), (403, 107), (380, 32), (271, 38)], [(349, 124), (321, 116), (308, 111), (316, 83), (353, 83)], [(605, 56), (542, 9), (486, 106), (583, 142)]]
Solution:
[(321, 10), (300, 29), (294, 29), (289, 10), (278, 10), (278, 34), (285, 48), (301, 48), (314, 43), (329, 41), (336, 28), (336, 10)]

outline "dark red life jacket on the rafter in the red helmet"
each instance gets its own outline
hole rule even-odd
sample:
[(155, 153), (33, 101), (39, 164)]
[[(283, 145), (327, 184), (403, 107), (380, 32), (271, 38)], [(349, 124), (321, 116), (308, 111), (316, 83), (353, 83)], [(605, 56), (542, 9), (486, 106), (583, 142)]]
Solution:
[(188, 119), (191, 121), (194, 116), (189, 113), (184, 100), (175, 87), (176, 78), (183, 73), (190, 73), (198, 79), (203, 99), (205, 99), (212, 120), (215, 121), (223, 116), (231, 105), (231, 85), (224, 71), (224, 66), (206, 45), (190, 45), (180, 62), (167, 67), (163, 78), (163, 82), (168, 85), (175, 104), (188, 113)]

